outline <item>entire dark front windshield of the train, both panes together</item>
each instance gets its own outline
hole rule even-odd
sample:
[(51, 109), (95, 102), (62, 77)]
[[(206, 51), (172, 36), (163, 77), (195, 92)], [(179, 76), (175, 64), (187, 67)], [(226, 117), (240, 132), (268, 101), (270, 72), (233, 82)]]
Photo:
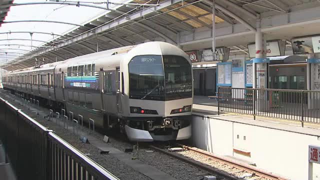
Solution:
[[(164, 67), (164, 70), (163, 70)], [(174, 100), (192, 97), (190, 63), (176, 55), (138, 55), (129, 68), (129, 98)]]

